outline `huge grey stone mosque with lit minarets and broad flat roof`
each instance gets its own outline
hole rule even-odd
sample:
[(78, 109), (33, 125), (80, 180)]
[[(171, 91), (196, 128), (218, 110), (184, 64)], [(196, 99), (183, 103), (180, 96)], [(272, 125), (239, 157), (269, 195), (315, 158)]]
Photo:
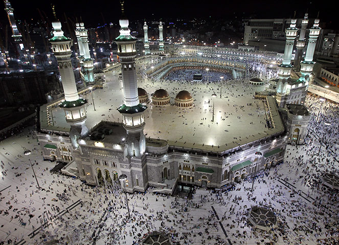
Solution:
[[(303, 116), (298, 115), (298, 112), (302, 110), (297, 108), (302, 105), (289, 106), (288, 127), (279, 112), (279, 106), (290, 104), (292, 99), (288, 99), (290, 98), (289, 94), (295, 96), (295, 93), (292, 93), (295, 88), (301, 90), (298, 104), (302, 104), (304, 100), (302, 96), (306, 94), (308, 77), (314, 63), (307, 55), (305, 61), (302, 61), (303, 72), (307, 70), (303, 73), (303, 79), (290, 85), (292, 67), (290, 45), (298, 31), (293, 26), (293, 20), (290, 28), (286, 30), (288, 44), (286, 42), (284, 57), (279, 57), (277, 54), (269, 56), (253, 52), (234, 52), (221, 48), (183, 46), (174, 52), (174, 57), (166, 58), (145, 69), (144, 82), (141, 81), (143, 78), (139, 77), (138, 79), (137, 70), (140, 69), (138, 66), (141, 66), (142, 62), (135, 58), (137, 56), (135, 50), (137, 39), (130, 34), (129, 22), (124, 14), (123, 4), (119, 23), (121, 26), (120, 35), (115, 39), (115, 42), (118, 45), (122, 82), (118, 81), (117, 76), (113, 77), (114, 81), (112, 80), (112, 82), (121, 84), (121, 88), (116, 86), (102, 91), (96, 89), (95, 92), (97, 94), (100, 92), (100, 96), (105, 96), (101, 98), (104, 100), (98, 100), (99, 98), (96, 97), (97, 108), (99, 105), (105, 107), (107, 102), (110, 103), (113, 98), (115, 99), (113, 93), (117, 94), (116, 100), (122, 101), (122, 104), (117, 106), (117, 111), (111, 113), (110, 119), (101, 120), (100, 114), (103, 112), (99, 112), (100, 109), (92, 110), (92, 106), (91, 108), (88, 106), (88, 101), (81, 98), (81, 94), (79, 96), (81, 91), (76, 90), (72, 66), (69, 64), (72, 40), (63, 36), (60, 21), (55, 18), (53, 22), (54, 37), (50, 39), (50, 42), (59, 63), (65, 99), (40, 108), (40, 129), (38, 129), (37, 136), (45, 159), (67, 163), (62, 169), (62, 173), (77, 176), (89, 185), (104, 186), (115, 185), (118, 177), (125, 174), (127, 176), (126, 190), (129, 192), (145, 191), (149, 186), (155, 187), (154, 191), (168, 194), (173, 194), (178, 185), (221, 188), (245, 178), (247, 175), (257, 173), (261, 169), (281, 163), (286, 144), (292, 140), (291, 138), (297, 143), (303, 142), (305, 136), (303, 129), (307, 127), (307, 111), (304, 111), (304, 118), (302, 118)], [(314, 38), (316, 40), (317, 23), (319, 20), (314, 23), (315, 31), (310, 34), (312, 35), (311, 40)], [(84, 79), (91, 82), (93, 60), (88, 57), (88, 44), (86, 45), (88, 40), (84, 34), (81, 34), (85, 30), (83, 23), (77, 24), (77, 28), (79, 32), (77, 37), (81, 39), (82, 53), (80, 55), (83, 54), (83, 57), (79, 59), (83, 62), (85, 71), (83, 73), (86, 75)], [(162, 34), (162, 29), (160, 28), (160, 30)], [(144, 31), (145, 55), (151, 57), (148, 50), (146, 22)], [(162, 38), (159, 48), (160, 51), (164, 51)], [(314, 47), (309, 45), (307, 51), (309, 48)], [(311, 51), (307, 54), (310, 53)], [(243, 58), (234, 61), (230, 58), (234, 56)], [(229, 97), (231, 92), (222, 88), (223, 81), (211, 85), (215, 86), (212, 90), (219, 89), (220, 86), (218, 92), (210, 91), (211, 87), (208, 89), (205, 84), (196, 84), (195, 87), (184, 84), (180, 89), (176, 90), (174, 86), (172, 90), (166, 90), (165, 87), (155, 87), (146, 81), (152, 79), (160, 81), (178, 66), (203, 67), (204, 69), (209, 67), (211, 70), (230, 72), (234, 78), (241, 78), (245, 77), (248, 71), (248, 66), (244, 61), (269, 64), (273, 59), (277, 64), (283, 60), (282, 65), (279, 66), (276, 96), (267, 94), (256, 100), (254, 95), (245, 94), (243, 97), (239, 95), (239, 100), (235, 102), (243, 101), (247, 105), (254, 104), (260, 108), (256, 113), (258, 118), (250, 119), (258, 120), (255, 121), (258, 122), (257, 124), (248, 124), (249, 120), (244, 119), (238, 125), (231, 126), (230, 118), (234, 117), (231, 112), (235, 111), (234, 108), (238, 105), (234, 104), (233, 107), (230, 107), (232, 111), (222, 111), (228, 103), (231, 103)], [(256, 83), (256, 87), (264, 86), (261, 79), (252, 79), (251, 83)], [(248, 81), (248, 85), (253, 84)], [(238, 88), (241, 88), (241, 85)], [(197, 89), (200, 89), (199, 95)], [(153, 92), (149, 94), (147, 90)], [(89, 92), (88, 89), (84, 91)], [(173, 94), (174, 92), (175, 94)], [(210, 93), (212, 92), (211, 97)], [(220, 99), (218, 98), (219, 93)], [(203, 99), (200, 99), (201, 96)], [(210, 122), (211, 120), (206, 118), (209, 117), (207, 112), (212, 108), (212, 100), (213, 119)], [(219, 103), (216, 105), (216, 112), (214, 110), (215, 102)], [(114, 101), (111, 102), (111, 104), (114, 103)], [(66, 122), (64, 122), (63, 116), (58, 116), (61, 114), (58, 114), (60, 109), (56, 108), (57, 106), (64, 111)], [(108, 106), (106, 107), (108, 108)], [(241, 108), (239, 110), (243, 110)], [(115, 110), (116, 108), (111, 109)], [(241, 116), (252, 118), (250, 116), (253, 115), (249, 114), (251, 113)], [(169, 116), (173, 117), (173, 115), (178, 119), (173, 119), (172, 125)], [(216, 115), (215, 119), (214, 115)], [(255, 117), (257, 117), (256, 115)], [(296, 116), (297, 119), (293, 116)], [(176, 124), (179, 120), (184, 121)], [(259, 123), (261, 120), (264, 122), (263, 124)], [(303, 122), (299, 124), (295, 120)], [(54, 123), (59, 126), (57, 127)], [(203, 126), (206, 128), (201, 128)], [(196, 130), (198, 127), (200, 128)], [(296, 128), (299, 129), (298, 134)], [(163, 129), (167, 132), (166, 135), (161, 132), (164, 131)], [(225, 133), (232, 130), (233, 132), (230, 134), (234, 136), (233, 138)], [(153, 131), (159, 132), (160, 136), (152, 137), (150, 132)], [(177, 132), (182, 134), (182, 137), (176, 137)], [(189, 136), (191, 133), (194, 137)], [(215, 143), (206, 143), (205, 140), (209, 138), (209, 134), (212, 135), (211, 140)], [(154, 133), (154, 135), (156, 134)]]

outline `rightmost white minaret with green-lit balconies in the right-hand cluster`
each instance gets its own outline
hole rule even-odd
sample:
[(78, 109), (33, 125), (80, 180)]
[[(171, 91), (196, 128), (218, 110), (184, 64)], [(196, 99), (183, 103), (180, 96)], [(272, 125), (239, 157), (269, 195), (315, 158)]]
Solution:
[(307, 44), (307, 50), (306, 50), (306, 56), (304, 61), (300, 62), (301, 69), (300, 73), (302, 77), (300, 80), (306, 82), (308, 80), (309, 75), (313, 71), (313, 66), (315, 62), (313, 61), (313, 55), (315, 50), (315, 44), (317, 44), (317, 39), (320, 35), (321, 28), (319, 27), (319, 18), (317, 17), (314, 20), (313, 27), (309, 29), (309, 38), (308, 38), (308, 44)]

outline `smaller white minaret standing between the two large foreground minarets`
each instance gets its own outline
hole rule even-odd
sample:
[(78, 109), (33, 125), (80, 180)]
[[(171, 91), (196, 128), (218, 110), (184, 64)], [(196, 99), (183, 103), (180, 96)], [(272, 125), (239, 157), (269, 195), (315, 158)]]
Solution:
[(79, 59), (82, 67), (82, 75), (86, 85), (88, 85), (88, 83), (93, 83), (95, 81), (93, 72), (94, 59), (92, 59), (91, 55), (89, 55), (88, 34), (87, 30), (84, 27), (83, 22), (76, 23), (75, 26), (76, 26), (75, 35), (77, 36), (78, 40), (80, 53)]

